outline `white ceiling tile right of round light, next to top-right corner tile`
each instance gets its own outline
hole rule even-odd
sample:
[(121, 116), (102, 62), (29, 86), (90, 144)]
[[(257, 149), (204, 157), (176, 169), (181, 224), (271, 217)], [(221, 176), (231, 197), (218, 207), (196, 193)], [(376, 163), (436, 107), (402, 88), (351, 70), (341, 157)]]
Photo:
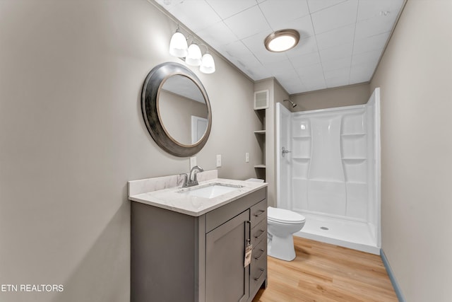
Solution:
[(356, 23), (358, 0), (348, 0), (311, 14), (316, 35)]

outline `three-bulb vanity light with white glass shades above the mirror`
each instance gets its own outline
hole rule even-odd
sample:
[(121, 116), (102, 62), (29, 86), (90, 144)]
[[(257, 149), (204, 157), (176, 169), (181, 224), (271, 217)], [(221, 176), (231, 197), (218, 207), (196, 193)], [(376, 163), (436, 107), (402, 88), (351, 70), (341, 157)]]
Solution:
[(215, 62), (212, 55), (208, 53), (207, 46), (204, 55), (202, 55), (201, 49), (196, 42), (193, 41), (188, 46), (186, 37), (179, 30), (179, 25), (177, 25), (176, 33), (172, 35), (169, 42), (169, 54), (184, 60), (187, 65), (200, 66), (199, 70), (203, 74), (213, 74), (215, 72)]

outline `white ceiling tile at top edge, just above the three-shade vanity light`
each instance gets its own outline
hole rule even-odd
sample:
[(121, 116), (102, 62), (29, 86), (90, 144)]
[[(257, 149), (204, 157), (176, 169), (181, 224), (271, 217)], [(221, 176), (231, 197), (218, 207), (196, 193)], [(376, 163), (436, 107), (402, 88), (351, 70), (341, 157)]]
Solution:
[[(194, 1), (196, 5), (192, 5)], [(204, 0), (185, 0), (173, 6), (170, 13), (195, 33), (221, 21), (220, 16)]]

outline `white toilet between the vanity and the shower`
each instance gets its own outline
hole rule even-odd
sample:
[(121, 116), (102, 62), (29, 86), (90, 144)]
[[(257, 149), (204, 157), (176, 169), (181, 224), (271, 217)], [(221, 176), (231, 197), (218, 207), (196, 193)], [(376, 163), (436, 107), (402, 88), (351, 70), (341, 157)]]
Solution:
[(295, 259), (293, 234), (300, 231), (306, 219), (286, 209), (268, 207), (268, 255), (285, 261)]

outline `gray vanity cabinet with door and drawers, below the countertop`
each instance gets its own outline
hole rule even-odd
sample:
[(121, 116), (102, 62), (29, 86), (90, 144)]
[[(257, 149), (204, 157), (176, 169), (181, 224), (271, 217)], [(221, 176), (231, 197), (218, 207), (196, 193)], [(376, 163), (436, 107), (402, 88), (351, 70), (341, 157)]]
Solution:
[(131, 302), (251, 302), (267, 279), (266, 196), (263, 187), (201, 216), (132, 202)]

